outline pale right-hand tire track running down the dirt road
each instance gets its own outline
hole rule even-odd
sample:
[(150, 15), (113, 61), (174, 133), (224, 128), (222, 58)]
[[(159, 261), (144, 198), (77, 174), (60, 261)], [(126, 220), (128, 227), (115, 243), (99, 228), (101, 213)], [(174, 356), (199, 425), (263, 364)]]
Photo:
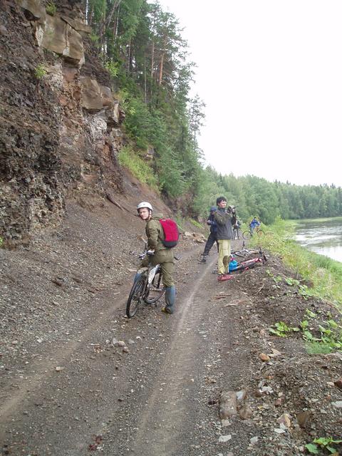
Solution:
[[(142, 410), (134, 438), (134, 454), (180, 455), (179, 445), (191, 445), (189, 425), (194, 426), (197, 401), (200, 400), (200, 320), (207, 312), (207, 299), (201, 295), (205, 294), (203, 279), (209, 276), (213, 265), (214, 260), (193, 281), (190, 291), (180, 296), (182, 307), (172, 325), (173, 339), (158, 378), (154, 380), (155, 390)], [(231, 345), (229, 337), (226, 342)], [(192, 445), (195, 443), (194, 440)]]

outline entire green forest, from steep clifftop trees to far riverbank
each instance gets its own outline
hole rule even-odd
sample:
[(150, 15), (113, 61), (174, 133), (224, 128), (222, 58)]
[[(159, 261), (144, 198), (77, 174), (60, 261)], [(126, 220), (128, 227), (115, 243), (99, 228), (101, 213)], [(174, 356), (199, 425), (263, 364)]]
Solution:
[(195, 63), (174, 14), (147, 0), (85, 0), (84, 13), (125, 110), (128, 144), (119, 160), (175, 212), (205, 216), (224, 195), (244, 222), (254, 215), (265, 224), (279, 216), (342, 215), (341, 187), (234, 177), (204, 167), (198, 137), (205, 105), (199, 95), (190, 96)]

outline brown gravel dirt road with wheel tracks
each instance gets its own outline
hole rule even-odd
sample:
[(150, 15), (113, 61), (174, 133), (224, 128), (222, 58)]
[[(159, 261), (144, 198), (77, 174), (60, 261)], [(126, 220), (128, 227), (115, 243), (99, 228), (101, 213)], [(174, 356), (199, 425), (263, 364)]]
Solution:
[[(225, 289), (232, 304), (237, 296), (217, 285), (214, 255), (206, 266), (197, 258), (194, 249), (181, 260), (174, 316), (146, 306), (128, 321), (125, 284), (113, 301), (98, 296), (95, 315), (75, 315), (78, 331), (60, 328), (66, 343), (51, 344), (14, 375), (0, 409), (11, 454), (81, 455), (92, 445), (105, 455), (196, 454), (199, 446), (212, 454), (220, 432), (209, 403), (227, 383), (222, 362), (237, 338), (229, 302), (212, 296)], [(234, 370), (241, 373), (237, 363)]]

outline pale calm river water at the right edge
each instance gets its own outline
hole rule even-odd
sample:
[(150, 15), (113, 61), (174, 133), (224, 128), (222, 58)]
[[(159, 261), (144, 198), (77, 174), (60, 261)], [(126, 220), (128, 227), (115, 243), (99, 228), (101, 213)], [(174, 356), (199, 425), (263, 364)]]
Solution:
[(299, 221), (296, 241), (306, 249), (342, 262), (342, 218)]

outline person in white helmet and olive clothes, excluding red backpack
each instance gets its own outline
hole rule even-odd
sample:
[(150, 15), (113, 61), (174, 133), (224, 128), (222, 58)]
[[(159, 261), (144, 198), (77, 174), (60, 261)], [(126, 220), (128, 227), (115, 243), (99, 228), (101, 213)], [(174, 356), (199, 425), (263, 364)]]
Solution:
[(162, 244), (162, 239), (165, 239), (164, 230), (160, 219), (162, 214), (153, 215), (153, 209), (149, 202), (140, 202), (137, 206), (140, 219), (146, 222), (146, 236), (147, 236), (147, 250), (153, 253), (151, 256), (145, 257), (142, 260), (142, 266), (148, 266), (149, 262), (153, 266), (160, 264), (162, 271), (162, 283), (165, 289), (165, 307), (162, 311), (166, 314), (173, 314), (175, 312), (175, 299), (176, 289), (173, 281), (173, 272), (175, 271), (175, 263), (173, 258), (173, 250), (165, 247)]

